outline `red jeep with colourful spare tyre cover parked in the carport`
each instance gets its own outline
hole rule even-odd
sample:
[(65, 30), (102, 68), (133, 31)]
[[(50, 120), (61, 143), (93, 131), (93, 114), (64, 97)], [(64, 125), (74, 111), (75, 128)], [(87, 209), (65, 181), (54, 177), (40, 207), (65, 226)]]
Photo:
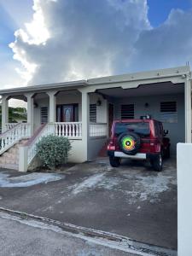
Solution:
[(154, 170), (160, 172), (163, 157), (170, 157), (171, 144), (166, 134), (162, 123), (149, 117), (113, 121), (108, 143), (110, 165), (118, 167), (122, 158), (149, 160)]

